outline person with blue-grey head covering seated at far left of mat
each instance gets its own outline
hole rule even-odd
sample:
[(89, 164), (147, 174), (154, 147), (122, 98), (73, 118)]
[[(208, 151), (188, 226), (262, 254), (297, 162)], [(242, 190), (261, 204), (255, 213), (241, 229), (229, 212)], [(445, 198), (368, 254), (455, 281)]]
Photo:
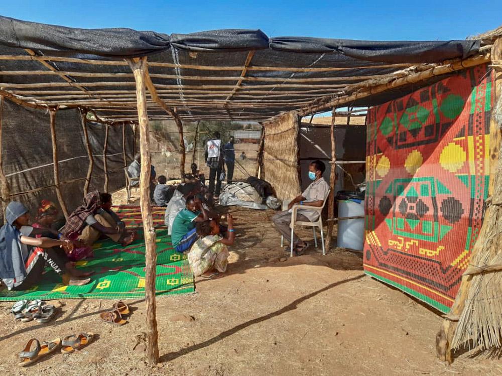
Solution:
[(90, 279), (78, 279), (68, 268), (54, 247), (62, 247), (71, 253), (73, 244), (69, 240), (48, 237), (31, 237), (34, 228), (29, 226), (28, 209), (17, 201), (11, 201), (6, 208), (7, 223), (0, 228), (0, 279), (9, 290), (26, 290), (43, 279), (45, 265), (61, 276), (65, 285), (85, 285)]

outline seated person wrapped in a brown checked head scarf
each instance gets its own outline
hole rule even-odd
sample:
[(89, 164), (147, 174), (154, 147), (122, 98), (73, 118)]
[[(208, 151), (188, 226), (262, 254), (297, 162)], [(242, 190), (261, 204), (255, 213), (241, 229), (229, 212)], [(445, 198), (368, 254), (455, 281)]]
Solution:
[(83, 204), (71, 213), (61, 232), (64, 237), (81, 240), (87, 246), (92, 245), (101, 235), (106, 235), (123, 246), (134, 241), (134, 233), (124, 226), (117, 226), (101, 208), (98, 191), (90, 192), (84, 197)]

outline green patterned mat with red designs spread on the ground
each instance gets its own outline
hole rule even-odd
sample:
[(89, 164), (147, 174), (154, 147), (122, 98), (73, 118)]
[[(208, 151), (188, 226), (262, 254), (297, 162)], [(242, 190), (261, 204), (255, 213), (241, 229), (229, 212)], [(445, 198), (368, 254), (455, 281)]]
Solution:
[[(114, 210), (128, 225), (142, 225), (137, 206), (119, 206)], [(153, 207), (154, 220), (164, 209)], [(156, 213), (157, 212), (157, 213)], [(156, 213), (156, 214), (155, 214)], [(138, 217), (139, 215), (139, 217)], [(156, 222), (158, 224), (158, 222)], [(157, 295), (194, 292), (193, 274), (184, 255), (175, 252), (165, 228), (157, 228)], [(77, 262), (85, 271), (95, 271), (85, 286), (63, 286), (61, 278), (47, 270), (42, 282), (28, 291), (1, 291), (0, 300), (19, 299), (131, 299), (145, 296), (145, 243), (143, 229), (138, 240), (121, 247), (110, 239), (94, 244), (94, 258)]]

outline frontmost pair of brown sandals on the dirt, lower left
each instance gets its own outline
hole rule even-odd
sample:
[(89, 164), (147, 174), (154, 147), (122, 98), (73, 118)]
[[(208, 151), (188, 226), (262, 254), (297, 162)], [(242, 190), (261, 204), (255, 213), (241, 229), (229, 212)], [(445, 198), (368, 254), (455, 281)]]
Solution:
[[(94, 334), (80, 333), (70, 334), (63, 338), (55, 338), (50, 342), (40, 343), (38, 339), (32, 338), (28, 341), (23, 351), (19, 353), (18, 365), (24, 367), (39, 360), (41, 357), (53, 353), (61, 346), (62, 354), (70, 354), (92, 341)], [(33, 344), (35, 347), (33, 348)]]

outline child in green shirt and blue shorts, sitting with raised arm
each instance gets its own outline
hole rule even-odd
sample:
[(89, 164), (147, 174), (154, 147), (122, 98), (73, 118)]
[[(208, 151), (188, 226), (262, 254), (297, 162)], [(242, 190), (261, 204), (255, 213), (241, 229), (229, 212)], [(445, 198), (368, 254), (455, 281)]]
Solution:
[(171, 240), (177, 252), (185, 252), (197, 240), (195, 222), (209, 219), (208, 212), (198, 198), (188, 196), (185, 209), (181, 210), (174, 219)]

